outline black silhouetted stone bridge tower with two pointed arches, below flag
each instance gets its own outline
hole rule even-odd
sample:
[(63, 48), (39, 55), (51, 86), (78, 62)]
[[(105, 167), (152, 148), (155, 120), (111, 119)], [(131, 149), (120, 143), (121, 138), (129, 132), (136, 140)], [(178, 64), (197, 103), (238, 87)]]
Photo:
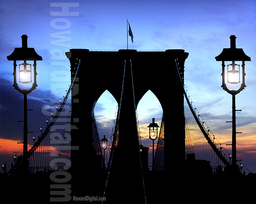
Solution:
[[(179, 63), (180, 77), (183, 80), (184, 63), (188, 53), (184, 50), (153, 52), (71, 49), (66, 55), (71, 64), (71, 78), (76, 73), (80, 59), (79, 79), (76, 82), (79, 86), (73, 93), (71, 114), (71, 125), (77, 127), (71, 129), (71, 145), (79, 146), (79, 150), (71, 149), (70, 171), (73, 187), (76, 187), (76, 182), (82, 182), (83, 190), (80, 191), (86, 189), (93, 194), (93, 189), (99, 190), (97, 186), (105, 182), (92, 149), (92, 111), (105, 90), (108, 90), (120, 105), (123, 79), (124, 96), (118, 133), (118, 153), (121, 155), (118, 157), (119, 168), (129, 167), (127, 175), (136, 172), (138, 135), (135, 108), (144, 94), (151, 90), (164, 112), (164, 180), (171, 182), (174, 175), (182, 174), (185, 161), (184, 99), (175, 70), (176, 63)], [(125, 61), (131, 61), (132, 72), (131, 67), (127, 65), (124, 75)], [(128, 147), (126, 141), (129, 141)], [(130, 177), (132, 176), (127, 179)]]

